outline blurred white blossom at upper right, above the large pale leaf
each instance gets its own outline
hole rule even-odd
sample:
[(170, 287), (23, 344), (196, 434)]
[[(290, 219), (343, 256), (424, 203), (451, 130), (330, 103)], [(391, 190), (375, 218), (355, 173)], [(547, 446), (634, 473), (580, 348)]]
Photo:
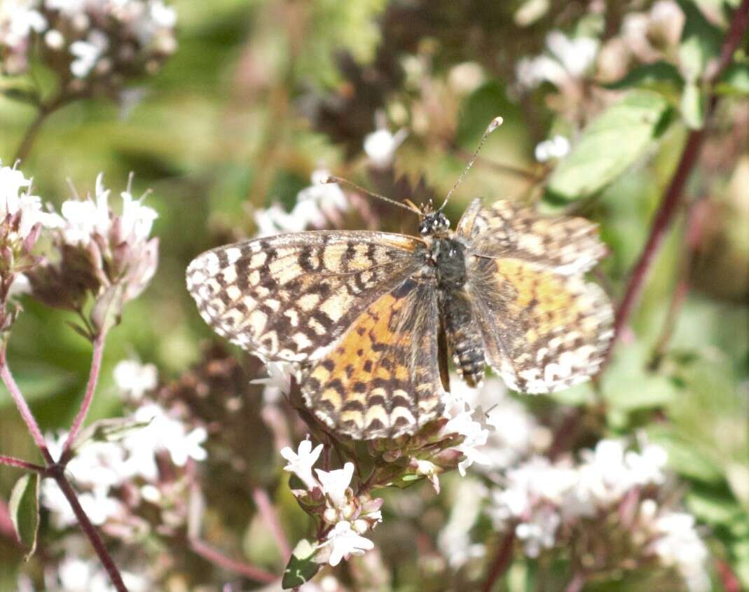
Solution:
[(585, 76), (598, 55), (597, 39), (571, 38), (561, 31), (548, 34), (546, 47), (547, 53), (518, 61), (515, 75), (521, 88), (536, 88), (543, 82), (564, 88)]

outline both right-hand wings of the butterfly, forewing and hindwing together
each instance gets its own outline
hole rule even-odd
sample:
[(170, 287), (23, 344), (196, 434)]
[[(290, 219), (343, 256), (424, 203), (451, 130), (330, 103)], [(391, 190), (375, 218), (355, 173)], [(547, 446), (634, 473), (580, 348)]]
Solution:
[(548, 393), (595, 375), (613, 336), (610, 300), (583, 277), (605, 253), (595, 226), (473, 202), (458, 233), (485, 357), (508, 386)]

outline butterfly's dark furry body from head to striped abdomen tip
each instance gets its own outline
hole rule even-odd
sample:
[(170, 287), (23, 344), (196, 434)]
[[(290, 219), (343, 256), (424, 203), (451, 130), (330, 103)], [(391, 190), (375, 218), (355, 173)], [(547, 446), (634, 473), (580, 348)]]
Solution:
[(429, 262), (434, 266), (442, 330), (455, 370), (471, 387), (484, 378), (484, 344), (467, 292), (466, 247), (449, 228), (441, 212), (422, 217), (419, 231), (428, 241)]

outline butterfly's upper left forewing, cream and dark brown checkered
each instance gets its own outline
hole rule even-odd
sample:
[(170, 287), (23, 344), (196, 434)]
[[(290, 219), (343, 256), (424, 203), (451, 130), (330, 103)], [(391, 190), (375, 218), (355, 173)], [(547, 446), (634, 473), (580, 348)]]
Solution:
[(418, 262), (418, 238), (384, 232), (300, 232), (219, 247), (187, 268), (204, 321), (266, 360), (306, 362)]

